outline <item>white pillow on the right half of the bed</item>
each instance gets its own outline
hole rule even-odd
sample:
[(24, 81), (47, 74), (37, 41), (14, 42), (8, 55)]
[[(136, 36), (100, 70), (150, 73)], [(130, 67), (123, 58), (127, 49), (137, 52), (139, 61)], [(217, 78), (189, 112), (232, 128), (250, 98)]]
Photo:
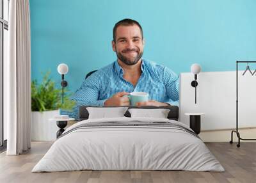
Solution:
[(150, 117), (150, 118), (167, 118), (170, 109), (128, 109), (131, 118)]

